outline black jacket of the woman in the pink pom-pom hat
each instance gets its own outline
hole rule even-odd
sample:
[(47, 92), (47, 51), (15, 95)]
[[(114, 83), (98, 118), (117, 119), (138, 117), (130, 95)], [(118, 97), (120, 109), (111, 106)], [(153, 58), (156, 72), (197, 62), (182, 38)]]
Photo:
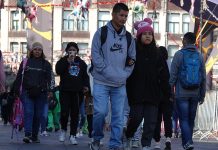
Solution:
[(129, 104), (158, 105), (163, 95), (169, 96), (169, 73), (157, 48), (137, 43), (136, 63), (127, 79)]

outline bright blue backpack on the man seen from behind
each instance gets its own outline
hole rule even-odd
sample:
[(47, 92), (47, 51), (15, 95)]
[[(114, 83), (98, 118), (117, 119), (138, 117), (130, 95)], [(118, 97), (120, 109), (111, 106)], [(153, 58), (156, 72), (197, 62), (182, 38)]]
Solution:
[(200, 54), (188, 49), (182, 49), (181, 52), (183, 54), (179, 73), (181, 86), (184, 89), (197, 89), (202, 81)]

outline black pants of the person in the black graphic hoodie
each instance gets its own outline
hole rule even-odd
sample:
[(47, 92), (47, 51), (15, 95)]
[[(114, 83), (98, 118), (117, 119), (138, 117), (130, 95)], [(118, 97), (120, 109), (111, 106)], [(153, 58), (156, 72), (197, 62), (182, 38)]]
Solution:
[(81, 92), (60, 91), (61, 104), (61, 129), (67, 131), (67, 123), (70, 115), (70, 135), (76, 136), (79, 122), (79, 108), (83, 100)]

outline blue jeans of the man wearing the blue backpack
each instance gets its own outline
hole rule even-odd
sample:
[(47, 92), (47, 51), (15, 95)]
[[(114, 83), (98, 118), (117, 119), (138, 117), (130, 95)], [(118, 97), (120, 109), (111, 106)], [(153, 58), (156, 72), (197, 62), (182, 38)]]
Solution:
[(182, 132), (182, 145), (186, 147), (193, 144), (192, 134), (196, 110), (198, 107), (198, 98), (177, 98), (176, 106), (178, 109), (179, 123)]

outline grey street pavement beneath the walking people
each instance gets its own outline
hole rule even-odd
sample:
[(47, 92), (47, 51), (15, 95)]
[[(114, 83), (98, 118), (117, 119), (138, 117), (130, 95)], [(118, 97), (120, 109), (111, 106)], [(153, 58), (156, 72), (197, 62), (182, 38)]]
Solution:
[[(51, 133), (47, 137), (39, 137), (41, 143), (25, 144), (22, 142), (23, 131), (18, 132), (11, 139), (12, 128), (10, 125), (3, 125), (0, 121), (0, 150), (89, 150), (89, 142), (91, 139), (87, 135), (83, 135), (78, 138), (78, 145), (70, 145), (67, 139), (64, 143), (58, 141), (58, 133)], [(107, 141), (109, 139), (109, 132), (106, 132), (103, 140), (103, 146), (101, 150), (107, 150)], [(218, 139), (217, 139), (218, 140)], [(199, 140), (194, 138), (195, 150), (218, 150), (218, 141), (215, 138), (210, 137), (208, 139)], [(161, 141), (162, 150), (164, 149), (164, 138)], [(153, 146), (154, 142), (152, 142)], [(140, 150), (140, 148), (132, 148), (132, 150)], [(172, 150), (182, 150), (181, 138), (172, 139)]]

